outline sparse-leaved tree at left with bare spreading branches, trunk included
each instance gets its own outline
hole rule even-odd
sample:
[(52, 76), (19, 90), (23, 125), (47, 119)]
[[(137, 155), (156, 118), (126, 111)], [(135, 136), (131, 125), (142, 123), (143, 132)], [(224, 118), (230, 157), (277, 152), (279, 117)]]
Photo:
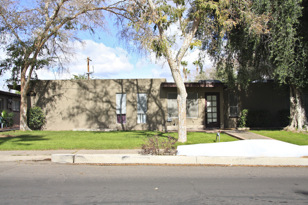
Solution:
[(66, 64), (75, 54), (75, 42), (83, 44), (79, 32), (107, 31), (104, 11), (117, 15), (118, 11), (125, 10), (122, 3), (104, 0), (36, 0), (22, 4), (21, 1), (0, 1), (0, 46), (7, 56), (0, 61), (0, 75), (10, 72), (12, 76), (8, 82), (20, 82), (21, 130), (29, 130), (26, 93), (30, 80), (37, 78), (35, 71), (47, 68), (54, 73), (66, 72)]

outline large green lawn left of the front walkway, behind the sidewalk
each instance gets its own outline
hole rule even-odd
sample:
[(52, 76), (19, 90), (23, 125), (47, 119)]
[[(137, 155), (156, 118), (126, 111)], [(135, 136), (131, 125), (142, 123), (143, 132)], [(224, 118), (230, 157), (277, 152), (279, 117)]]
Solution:
[[(177, 138), (177, 133), (155, 131), (113, 131), (113, 132), (82, 132), (82, 131), (9, 131), (0, 135), (0, 150), (58, 150), (58, 149), (138, 149), (147, 136), (158, 134)], [(3, 137), (7, 136), (7, 137)], [(221, 133), (221, 142), (237, 139)], [(213, 143), (216, 133), (188, 132), (186, 143)]]

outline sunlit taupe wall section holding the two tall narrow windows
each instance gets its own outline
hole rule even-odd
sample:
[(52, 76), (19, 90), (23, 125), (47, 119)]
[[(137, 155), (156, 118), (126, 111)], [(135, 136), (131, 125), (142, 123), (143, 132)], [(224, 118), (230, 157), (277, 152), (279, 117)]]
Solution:
[[(38, 105), (47, 117), (47, 130), (114, 128), (162, 130), (167, 100), (160, 99), (165, 79), (108, 79), (34, 81), (28, 107)], [(116, 93), (126, 94), (126, 124), (116, 123)], [(147, 123), (137, 124), (137, 94), (147, 93)]]

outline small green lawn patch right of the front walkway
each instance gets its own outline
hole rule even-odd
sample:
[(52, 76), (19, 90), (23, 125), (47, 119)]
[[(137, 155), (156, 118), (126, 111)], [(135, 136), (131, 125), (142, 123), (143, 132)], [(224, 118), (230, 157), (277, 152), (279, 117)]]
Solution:
[(308, 145), (308, 134), (304, 133), (286, 132), (284, 130), (249, 130), (249, 132), (291, 144)]

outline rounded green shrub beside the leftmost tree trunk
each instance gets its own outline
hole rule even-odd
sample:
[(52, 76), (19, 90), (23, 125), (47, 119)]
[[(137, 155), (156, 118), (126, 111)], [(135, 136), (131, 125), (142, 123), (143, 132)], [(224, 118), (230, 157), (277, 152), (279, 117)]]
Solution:
[(47, 123), (46, 116), (38, 106), (27, 110), (27, 124), (31, 130), (43, 130)]

